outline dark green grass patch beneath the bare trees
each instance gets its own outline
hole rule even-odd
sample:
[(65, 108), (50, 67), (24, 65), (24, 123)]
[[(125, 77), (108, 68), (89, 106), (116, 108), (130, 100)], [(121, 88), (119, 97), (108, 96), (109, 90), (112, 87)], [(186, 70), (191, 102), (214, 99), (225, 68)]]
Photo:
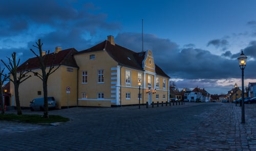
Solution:
[(41, 115), (16, 115), (16, 114), (0, 114), (0, 120), (19, 121), (24, 123), (55, 123), (67, 122), (69, 118), (59, 115), (49, 115), (49, 118), (44, 118)]

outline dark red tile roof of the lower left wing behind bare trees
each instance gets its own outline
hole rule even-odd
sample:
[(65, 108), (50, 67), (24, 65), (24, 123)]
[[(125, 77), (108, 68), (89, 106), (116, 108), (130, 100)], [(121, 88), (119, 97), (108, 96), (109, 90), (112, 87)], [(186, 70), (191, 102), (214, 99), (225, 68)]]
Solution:
[[(59, 51), (56, 54), (56, 58), (53, 62), (53, 66), (65, 65), (69, 67), (78, 67), (76, 64), (75, 58), (73, 57), (74, 53), (77, 53), (77, 50), (74, 48)], [(47, 67), (51, 66), (54, 56), (55, 56), (55, 53), (50, 53), (49, 55), (46, 55), (45, 60), (47, 60), (48, 58)], [(34, 58), (29, 58), (27, 61), (21, 64), (18, 67), (17, 71), (33, 70), (38, 68), (40, 68), (39, 60), (37, 57), (34, 57)]]

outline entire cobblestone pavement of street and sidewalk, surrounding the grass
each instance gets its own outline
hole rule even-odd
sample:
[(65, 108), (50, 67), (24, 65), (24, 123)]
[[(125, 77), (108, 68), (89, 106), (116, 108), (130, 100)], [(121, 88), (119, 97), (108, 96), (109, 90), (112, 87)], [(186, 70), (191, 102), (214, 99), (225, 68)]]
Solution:
[(72, 107), (49, 111), (70, 118), (58, 126), (0, 121), (0, 150), (256, 150), (255, 111), (241, 124), (231, 103)]

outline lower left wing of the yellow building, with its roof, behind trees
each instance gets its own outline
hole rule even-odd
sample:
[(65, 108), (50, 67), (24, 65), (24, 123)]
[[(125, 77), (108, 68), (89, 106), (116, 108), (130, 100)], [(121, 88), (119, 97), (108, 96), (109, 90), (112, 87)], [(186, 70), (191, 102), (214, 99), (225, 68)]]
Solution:
[[(60, 109), (62, 106), (77, 105), (77, 70), (78, 66), (73, 57), (73, 54), (77, 53), (74, 48), (62, 50), (60, 47), (56, 47), (55, 52), (49, 54), (49, 61), (47, 67), (50, 67), (51, 62), (56, 54), (56, 58), (53, 62), (54, 68), (59, 66), (53, 74), (49, 76), (48, 79), (48, 96), (53, 96), (57, 103), (57, 108)], [(37, 57), (30, 58), (18, 67), (18, 71), (31, 70), (33, 72), (41, 73), (39, 69), (39, 61)], [(47, 71), (49, 68), (47, 68)], [(33, 73), (30, 73), (30, 78), (19, 85), (19, 100), (20, 106), (28, 107), (30, 101), (33, 98), (44, 97), (42, 89), (42, 81)], [(28, 76), (29, 76), (28, 75)], [(70, 94), (68, 100), (68, 94), (66, 88), (70, 87)], [(15, 96), (14, 96), (14, 85), (10, 84), (11, 93), (11, 104), (16, 106)]]

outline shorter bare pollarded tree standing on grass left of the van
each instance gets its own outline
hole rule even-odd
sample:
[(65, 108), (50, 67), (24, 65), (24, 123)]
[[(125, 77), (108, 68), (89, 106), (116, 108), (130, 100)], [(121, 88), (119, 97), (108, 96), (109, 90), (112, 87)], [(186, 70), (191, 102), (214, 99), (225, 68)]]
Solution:
[[(7, 57), (8, 58), (8, 57)], [(12, 53), (12, 58), (8, 58), (9, 64), (5, 63), (2, 59), (1, 61), (5, 64), (5, 67), (9, 70), (10, 74), (12, 75), (12, 78), (9, 77), (9, 80), (13, 82), (14, 84), (14, 93), (15, 93), (15, 102), (16, 102), (16, 109), (17, 109), (17, 115), (22, 115), (22, 109), (20, 107), (19, 102), (19, 93), (18, 88), (19, 84), (27, 80), (29, 77), (28, 72), (26, 70), (19, 70), (17, 71), (19, 61), (16, 63), (16, 52)]]

